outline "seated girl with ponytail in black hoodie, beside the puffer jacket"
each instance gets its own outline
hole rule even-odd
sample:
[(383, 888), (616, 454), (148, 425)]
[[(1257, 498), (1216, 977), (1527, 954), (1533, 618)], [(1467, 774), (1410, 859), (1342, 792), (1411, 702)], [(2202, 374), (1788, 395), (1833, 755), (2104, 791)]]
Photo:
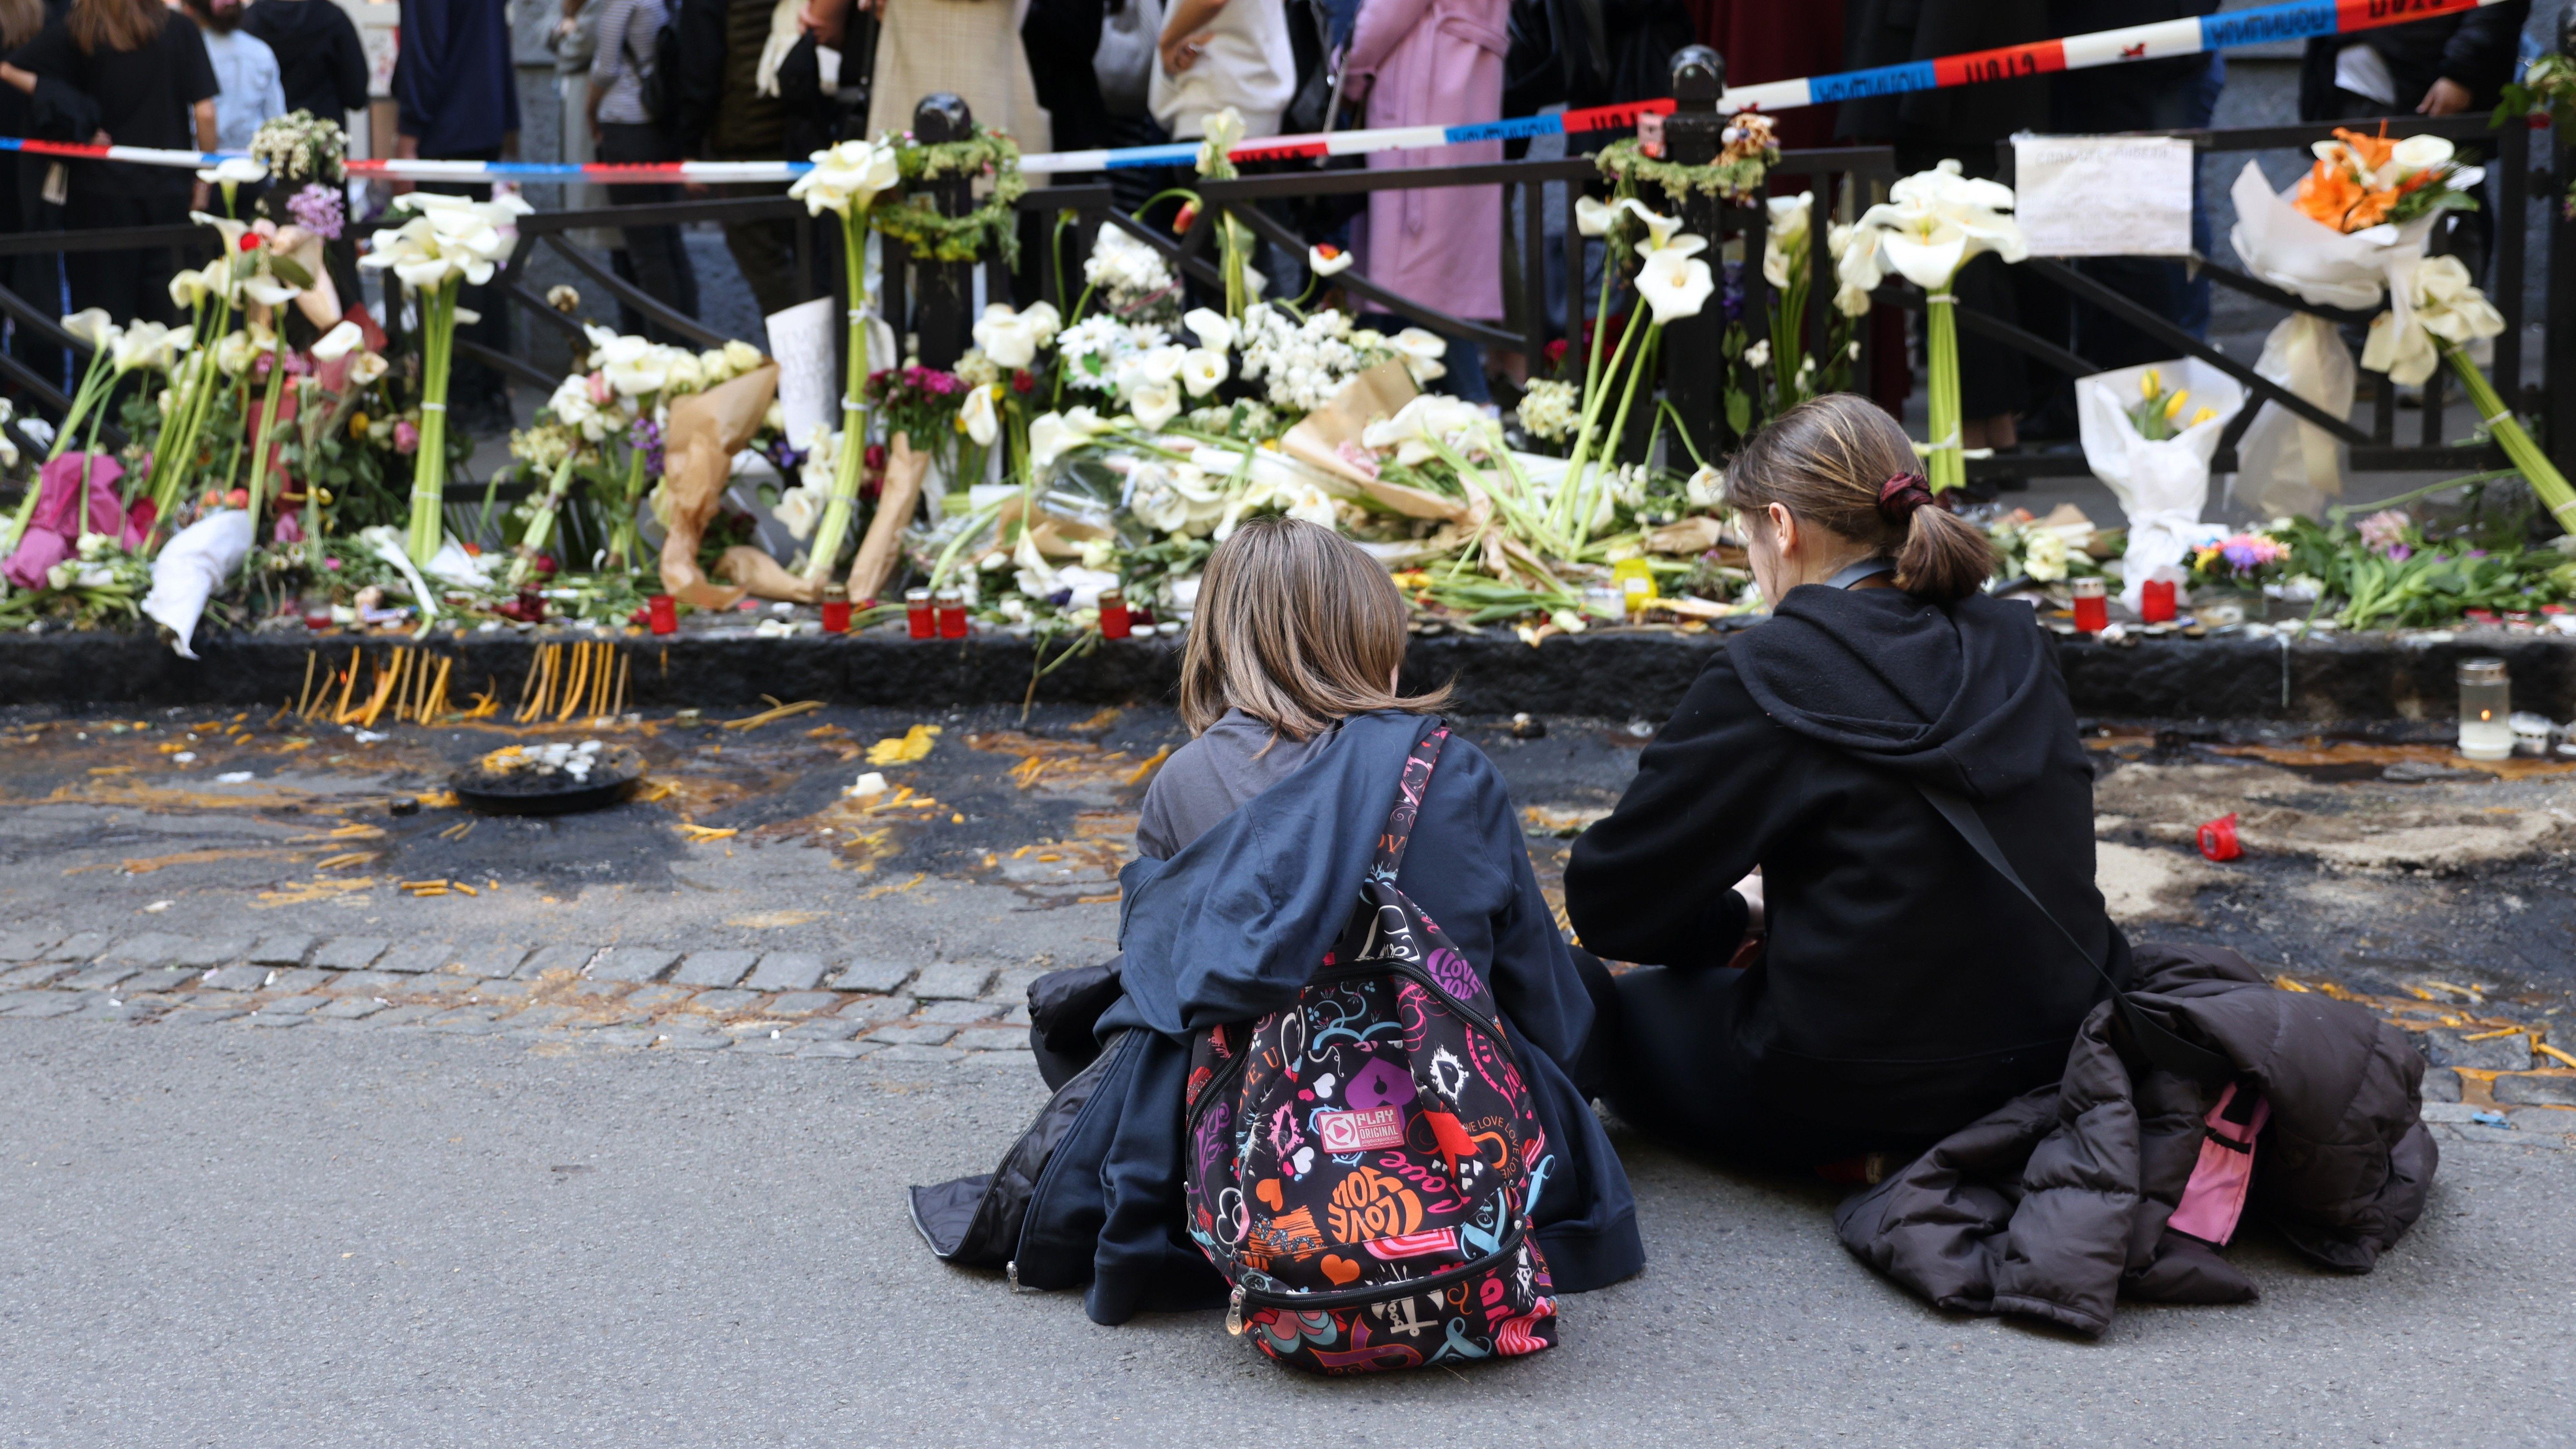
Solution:
[[(1728, 466), (1772, 618), (1734, 636), (1574, 842), (1618, 1114), (1765, 1166), (1909, 1153), (2056, 1081), (2102, 978), (1919, 785), (1968, 798), (2112, 978), (2092, 764), (2030, 610), (1978, 587), (1893, 417), (1832, 394)], [(1754, 875), (1759, 870), (1759, 875)], [(1747, 929), (1762, 955), (1736, 970)]]

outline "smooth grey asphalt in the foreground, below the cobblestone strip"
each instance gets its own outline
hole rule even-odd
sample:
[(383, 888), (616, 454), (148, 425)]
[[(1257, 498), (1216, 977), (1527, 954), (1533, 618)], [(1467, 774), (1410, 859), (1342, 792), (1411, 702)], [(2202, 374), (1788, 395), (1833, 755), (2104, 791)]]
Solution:
[(2375, 1274), (2257, 1230), (2262, 1302), (2089, 1343), (1623, 1143), (1651, 1266), (1561, 1349), (1316, 1382), (930, 1259), (902, 1189), (987, 1168), (1025, 1068), (90, 1022), (0, 1063), (10, 1444), (2568, 1444), (2566, 1150), (2447, 1145)]

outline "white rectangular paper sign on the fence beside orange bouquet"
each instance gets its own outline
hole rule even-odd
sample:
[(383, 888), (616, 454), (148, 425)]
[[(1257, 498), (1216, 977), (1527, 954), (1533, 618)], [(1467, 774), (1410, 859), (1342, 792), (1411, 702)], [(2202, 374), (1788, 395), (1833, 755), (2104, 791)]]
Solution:
[(2174, 136), (2014, 136), (2014, 216), (2038, 257), (2187, 257), (2192, 144)]

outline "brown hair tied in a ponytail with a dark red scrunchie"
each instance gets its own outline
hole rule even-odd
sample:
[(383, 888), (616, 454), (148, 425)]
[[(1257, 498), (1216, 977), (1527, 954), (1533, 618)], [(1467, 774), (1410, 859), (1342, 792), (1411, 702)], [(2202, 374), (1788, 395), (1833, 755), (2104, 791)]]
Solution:
[[(1891, 479), (1917, 474), (1914, 443), (1875, 401), (1826, 394), (1775, 417), (1726, 466), (1726, 504), (1793, 515), (1896, 558), (1896, 587), (1958, 602), (1994, 577), (1994, 543), (1945, 507), (1883, 502)], [(1911, 489), (1906, 489), (1911, 494)]]

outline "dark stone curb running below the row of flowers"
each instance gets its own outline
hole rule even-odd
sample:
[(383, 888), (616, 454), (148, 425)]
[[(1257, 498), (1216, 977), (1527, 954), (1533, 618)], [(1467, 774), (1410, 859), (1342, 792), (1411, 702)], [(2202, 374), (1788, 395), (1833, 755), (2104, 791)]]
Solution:
[[(469, 633), (428, 649), (456, 656), (451, 697), (500, 687), (518, 697), (538, 643), (587, 633)], [(1512, 636), (1427, 636), (1406, 656), (1406, 685), (1455, 679), (1461, 713), (1515, 710), (1607, 718), (1664, 718), (1723, 649), (1723, 633), (1602, 631), (1548, 638), (1538, 649)], [(0, 703), (10, 705), (263, 705), (294, 700), (307, 654), (325, 669), (350, 649), (384, 656), (394, 636), (216, 636), (188, 661), (149, 633), (0, 633)], [(1033, 646), (1010, 636), (909, 641), (618, 636), (634, 661), (629, 708), (732, 708), (781, 700), (832, 705), (1015, 705), (1028, 695)], [(2576, 715), (2576, 638), (2501, 628), (2419, 636), (2141, 638), (2125, 646), (2058, 641), (2079, 715), (2094, 718), (2275, 718), (2275, 721), (2442, 721), (2455, 713), (2455, 669), (2465, 656), (2501, 656), (2514, 674), (2514, 708)], [(1180, 641), (1118, 641), (1066, 661), (1038, 682), (1038, 700), (1066, 705), (1170, 703)]]

